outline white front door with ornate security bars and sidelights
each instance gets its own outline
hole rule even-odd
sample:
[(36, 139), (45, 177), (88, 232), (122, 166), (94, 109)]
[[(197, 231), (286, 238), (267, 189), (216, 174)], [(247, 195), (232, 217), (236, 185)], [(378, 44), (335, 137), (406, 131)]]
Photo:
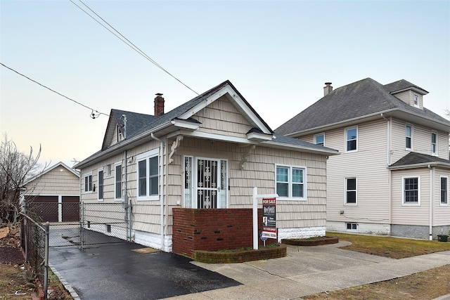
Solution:
[(184, 207), (227, 207), (227, 162), (221, 159), (185, 157)]

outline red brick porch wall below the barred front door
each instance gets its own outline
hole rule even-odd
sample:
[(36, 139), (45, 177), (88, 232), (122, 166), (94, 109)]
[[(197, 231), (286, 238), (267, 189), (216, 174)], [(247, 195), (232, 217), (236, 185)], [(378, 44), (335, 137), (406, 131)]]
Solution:
[[(252, 209), (174, 208), (173, 249), (194, 256), (195, 250), (217, 251), (253, 246)], [(262, 209), (258, 209), (262, 220)], [(262, 232), (259, 224), (258, 233)], [(276, 242), (267, 240), (266, 244)], [(259, 240), (259, 244), (263, 244)]]

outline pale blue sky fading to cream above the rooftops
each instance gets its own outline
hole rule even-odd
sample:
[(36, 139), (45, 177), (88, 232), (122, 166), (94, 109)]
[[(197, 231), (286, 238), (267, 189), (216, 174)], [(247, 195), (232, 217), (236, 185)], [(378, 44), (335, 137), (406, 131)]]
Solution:
[(225, 80), (271, 129), (325, 82), (367, 77), (405, 79), (428, 109), (450, 108), (450, 1), (83, 1), (193, 91), (72, 1), (0, 0), (1, 63), (89, 107), (0, 65), (1, 138), (40, 146), (41, 164), (100, 150), (112, 108), (153, 115), (163, 93), (168, 112)]

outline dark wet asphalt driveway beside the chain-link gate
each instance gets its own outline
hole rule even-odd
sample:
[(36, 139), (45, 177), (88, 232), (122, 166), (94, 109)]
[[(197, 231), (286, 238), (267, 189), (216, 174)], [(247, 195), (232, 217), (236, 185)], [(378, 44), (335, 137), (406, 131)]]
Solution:
[(140, 253), (140, 244), (103, 244), (84, 252), (50, 249), (49, 261), (80, 299), (162, 299), (240, 285), (177, 254)]

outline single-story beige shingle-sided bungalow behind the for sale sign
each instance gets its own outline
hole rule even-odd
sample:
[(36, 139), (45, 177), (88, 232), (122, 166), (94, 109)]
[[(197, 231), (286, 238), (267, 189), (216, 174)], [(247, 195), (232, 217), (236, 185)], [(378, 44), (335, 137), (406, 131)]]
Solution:
[(156, 95), (154, 115), (111, 110), (101, 150), (75, 165), (82, 202), (122, 202), (124, 214), (131, 207), (131, 217), (124, 216), (131, 241), (165, 252), (210, 238), (195, 228), (174, 240), (183, 221), (174, 211), (194, 217), (206, 211), (214, 226), (224, 227), (212, 226), (214, 241), (230, 249), (239, 234), (221, 230), (240, 230), (242, 220), (223, 224), (221, 218), (251, 211), (257, 187), (258, 194), (279, 196), (278, 240), (325, 235), (326, 162), (336, 150), (274, 133), (230, 81), (169, 112)]

